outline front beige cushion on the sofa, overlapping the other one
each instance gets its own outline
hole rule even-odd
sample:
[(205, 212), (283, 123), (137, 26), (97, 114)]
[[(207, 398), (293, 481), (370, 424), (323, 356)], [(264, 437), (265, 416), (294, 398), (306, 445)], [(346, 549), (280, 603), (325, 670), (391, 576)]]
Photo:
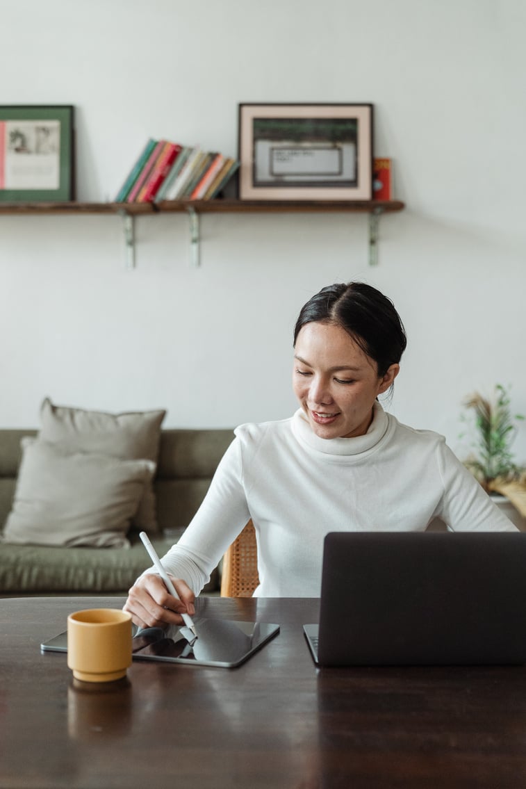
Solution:
[(6, 542), (129, 546), (125, 534), (155, 464), (105, 454), (70, 452), (41, 439), (22, 439), (22, 462)]

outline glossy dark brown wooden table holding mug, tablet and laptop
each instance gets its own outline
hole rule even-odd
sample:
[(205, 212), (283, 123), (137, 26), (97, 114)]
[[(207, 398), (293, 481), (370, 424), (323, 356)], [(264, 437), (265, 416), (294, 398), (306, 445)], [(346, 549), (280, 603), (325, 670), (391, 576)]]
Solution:
[(0, 600), (2, 789), (526, 787), (526, 668), (317, 671), (318, 600), (203, 598), (281, 633), (236, 669), (134, 662), (124, 686), (77, 689), (40, 642), (123, 602)]

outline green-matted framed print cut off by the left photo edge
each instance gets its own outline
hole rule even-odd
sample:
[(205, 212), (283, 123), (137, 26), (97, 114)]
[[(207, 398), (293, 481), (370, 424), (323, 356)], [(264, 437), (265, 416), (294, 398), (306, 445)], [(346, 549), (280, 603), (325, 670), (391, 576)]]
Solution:
[(73, 107), (0, 106), (0, 202), (73, 200)]

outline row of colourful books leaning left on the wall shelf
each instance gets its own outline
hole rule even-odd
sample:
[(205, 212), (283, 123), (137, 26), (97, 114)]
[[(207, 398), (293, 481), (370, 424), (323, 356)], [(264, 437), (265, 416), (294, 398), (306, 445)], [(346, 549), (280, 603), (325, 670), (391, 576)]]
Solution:
[(150, 138), (115, 197), (116, 203), (212, 200), (239, 167), (237, 159)]

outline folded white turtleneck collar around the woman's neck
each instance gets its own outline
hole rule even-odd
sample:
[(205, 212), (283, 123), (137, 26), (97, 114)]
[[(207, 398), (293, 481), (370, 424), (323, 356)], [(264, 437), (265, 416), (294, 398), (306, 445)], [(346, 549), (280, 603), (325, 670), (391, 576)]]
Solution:
[(353, 455), (367, 452), (379, 443), (389, 427), (389, 418), (379, 402), (375, 402), (372, 422), (364, 436), (349, 439), (321, 439), (312, 432), (304, 411), (299, 408), (293, 416), (292, 427), (297, 440), (306, 444), (311, 450), (323, 454)]

